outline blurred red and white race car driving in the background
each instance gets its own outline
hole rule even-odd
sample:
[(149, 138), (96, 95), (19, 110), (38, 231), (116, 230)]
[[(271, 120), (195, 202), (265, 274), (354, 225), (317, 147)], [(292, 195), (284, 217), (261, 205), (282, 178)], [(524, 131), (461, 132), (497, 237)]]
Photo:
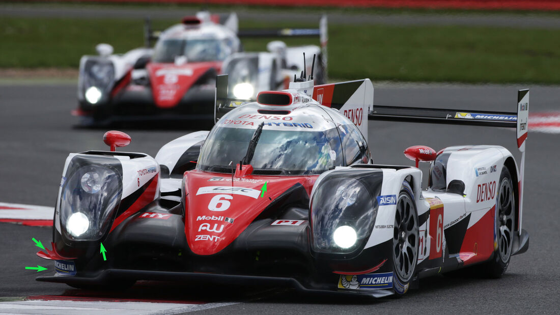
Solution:
[[(146, 48), (112, 54), (112, 46), (99, 44), (99, 55), (81, 58), (78, 109), (73, 114), (81, 117), (82, 125), (131, 120), (211, 123), (217, 74), (231, 73), (231, 96), (250, 100), (259, 91), (288, 88), (290, 78), (304, 70), (302, 53), (318, 55), (315, 82), (326, 82), (326, 17), (319, 29), (238, 31), (235, 13), (203, 11), (162, 32), (153, 32), (147, 20), (145, 33)], [(275, 40), (267, 52), (243, 52), (239, 38), (249, 36), (318, 36), (321, 46), (287, 47)], [(152, 49), (153, 39), (157, 43)]]

